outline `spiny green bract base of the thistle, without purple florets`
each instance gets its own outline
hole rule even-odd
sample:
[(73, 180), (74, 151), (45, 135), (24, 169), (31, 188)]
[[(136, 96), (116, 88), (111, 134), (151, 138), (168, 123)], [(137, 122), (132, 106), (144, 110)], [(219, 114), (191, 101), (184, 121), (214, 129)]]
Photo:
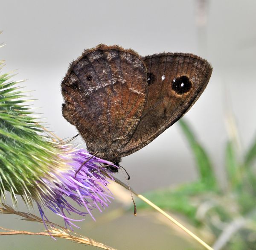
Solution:
[(0, 76), (0, 196), (5, 199), (5, 191), (9, 191), (14, 203), (15, 194), (19, 194), (31, 205), (32, 186), (47, 166), (56, 164), (54, 156), (59, 149), (47, 141), (41, 133), (43, 127), (29, 116), (33, 112), (26, 105), (29, 100), (24, 100), (28, 95), (19, 91), (10, 77)]

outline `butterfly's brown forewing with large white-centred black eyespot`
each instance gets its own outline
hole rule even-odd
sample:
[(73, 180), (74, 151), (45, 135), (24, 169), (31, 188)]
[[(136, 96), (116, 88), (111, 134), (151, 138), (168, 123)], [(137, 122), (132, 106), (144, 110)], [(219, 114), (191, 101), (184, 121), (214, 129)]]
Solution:
[(169, 128), (198, 99), (212, 73), (204, 59), (184, 53), (146, 56), (148, 95), (131, 140), (120, 148), (121, 157), (143, 148)]

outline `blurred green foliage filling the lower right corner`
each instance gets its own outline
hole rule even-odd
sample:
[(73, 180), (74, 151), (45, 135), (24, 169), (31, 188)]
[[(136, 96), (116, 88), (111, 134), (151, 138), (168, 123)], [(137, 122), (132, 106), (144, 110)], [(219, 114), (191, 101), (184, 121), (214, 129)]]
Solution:
[[(180, 127), (192, 150), (198, 180), (176, 188), (166, 188), (145, 194), (162, 209), (178, 212), (200, 231), (207, 230), (215, 250), (256, 249), (256, 140), (246, 152), (241, 152), (233, 139), (225, 148), (225, 184), (220, 185), (205, 148), (184, 119)], [(224, 187), (223, 187), (224, 186)], [(137, 208), (148, 209), (137, 203)]]

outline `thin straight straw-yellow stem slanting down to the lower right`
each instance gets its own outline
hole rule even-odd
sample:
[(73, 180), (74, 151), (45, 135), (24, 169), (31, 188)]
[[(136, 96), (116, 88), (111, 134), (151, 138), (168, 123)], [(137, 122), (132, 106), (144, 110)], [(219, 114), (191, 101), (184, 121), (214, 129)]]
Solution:
[[(116, 177), (113, 177), (115, 182), (120, 184), (121, 186), (123, 186), (124, 188), (129, 190), (129, 187), (123, 183), (121, 180), (118, 180)], [(147, 198), (145, 198), (143, 195), (137, 194), (136, 192), (134, 192), (134, 190), (130, 189), (131, 192), (134, 193), (134, 195), (136, 195), (138, 198), (140, 198), (142, 201), (144, 201), (145, 203), (147, 203), (149, 206), (153, 207), (154, 209), (156, 209), (158, 212), (160, 212), (162, 215), (164, 215), (166, 218), (168, 218), (170, 221), (172, 221), (175, 225), (177, 225), (180, 229), (182, 229), (184, 232), (186, 232), (188, 235), (190, 235), (192, 238), (194, 238), (196, 241), (198, 241), (201, 245), (203, 245), (206, 249), (208, 250), (213, 250), (212, 247), (210, 247), (208, 244), (206, 244), (203, 240), (201, 240), (201, 238), (199, 238), (197, 235), (195, 235), (194, 233), (192, 233), (190, 230), (188, 230), (186, 227), (184, 227), (182, 224), (180, 224), (180, 222), (176, 221), (175, 218), (173, 218), (172, 216), (170, 216), (169, 214), (167, 214), (166, 212), (164, 212), (162, 209), (160, 209), (160, 207), (158, 207), (157, 205), (155, 205), (153, 202), (149, 201)]]

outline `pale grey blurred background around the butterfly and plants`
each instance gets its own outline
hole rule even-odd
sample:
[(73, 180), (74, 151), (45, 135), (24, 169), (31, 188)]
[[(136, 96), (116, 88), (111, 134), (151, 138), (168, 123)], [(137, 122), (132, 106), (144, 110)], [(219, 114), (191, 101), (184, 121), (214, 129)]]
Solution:
[[(192, 52), (206, 58), (213, 67), (212, 77), (185, 117), (212, 156), (221, 185), (225, 185), (222, 163), (228, 137), (227, 108), (233, 110), (242, 148), (250, 145), (256, 134), (256, 1), (8, 0), (0, 3), (0, 9), (0, 43), (6, 44), (0, 49), (0, 59), (6, 60), (3, 72), (18, 69), (15, 80), (28, 79), (26, 90), (35, 90), (35, 106), (41, 107), (39, 112), (47, 117), (44, 121), (61, 138), (77, 132), (61, 115), (60, 83), (69, 63), (85, 48), (119, 44), (140, 55)], [(82, 142), (81, 138), (76, 142)], [(123, 158), (122, 166), (139, 193), (197, 179), (192, 153), (178, 124)], [(20, 204), (19, 209), (26, 211)], [(113, 202), (105, 212), (117, 207), (119, 203)], [(42, 229), (16, 217), (0, 215), (0, 226)], [(62, 223), (56, 216), (49, 218)], [(188, 237), (187, 241), (181, 239), (179, 231), (157, 224), (140, 211), (137, 217), (131, 212), (101, 224), (93, 224), (88, 216), (78, 224), (79, 233), (119, 250), (201, 249)], [(85, 247), (42, 236), (3, 236), (0, 245), (1, 249), (19, 250)]]

